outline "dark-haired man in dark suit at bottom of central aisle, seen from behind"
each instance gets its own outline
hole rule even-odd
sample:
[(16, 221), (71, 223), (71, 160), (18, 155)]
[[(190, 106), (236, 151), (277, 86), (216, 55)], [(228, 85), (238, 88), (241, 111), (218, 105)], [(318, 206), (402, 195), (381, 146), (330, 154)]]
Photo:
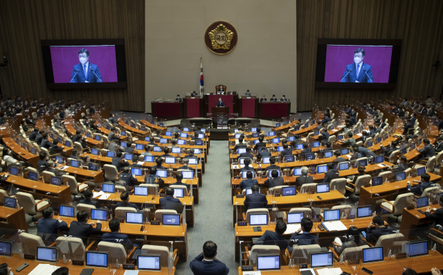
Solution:
[(208, 240), (203, 245), (203, 251), (189, 264), (192, 273), (195, 275), (212, 274), (228, 275), (229, 269), (224, 263), (215, 258), (217, 256), (217, 245)]

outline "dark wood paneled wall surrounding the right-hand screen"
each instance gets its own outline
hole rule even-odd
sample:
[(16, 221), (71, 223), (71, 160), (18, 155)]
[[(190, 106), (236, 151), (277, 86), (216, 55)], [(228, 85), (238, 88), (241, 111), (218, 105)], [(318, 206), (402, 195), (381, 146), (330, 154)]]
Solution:
[[(330, 107), (332, 100), (352, 104), (413, 95), (440, 98), (443, 67), (432, 64), (443, 57), (442, 14), (441, 0), (298, 0), (298, 111), (309, 111), (314, 103)], [(314, 88), (318, 38), (402, 39), (397, 88)]]

